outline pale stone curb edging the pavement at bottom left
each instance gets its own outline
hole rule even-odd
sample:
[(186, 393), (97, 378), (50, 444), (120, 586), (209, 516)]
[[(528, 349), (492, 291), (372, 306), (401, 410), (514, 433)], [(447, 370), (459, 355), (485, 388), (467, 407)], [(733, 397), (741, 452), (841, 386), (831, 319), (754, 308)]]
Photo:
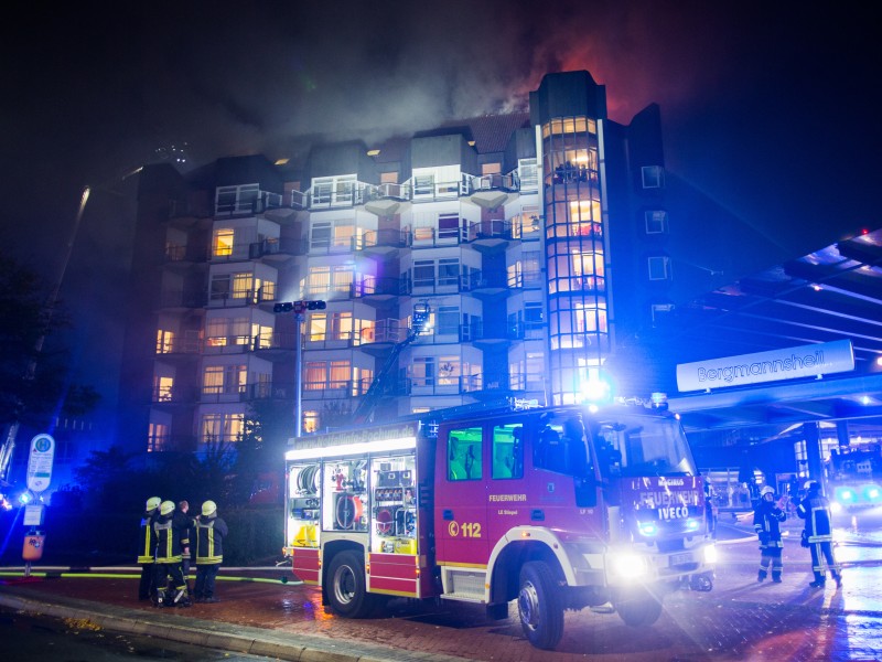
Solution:
[(0, 606), (34, 615), (88, 620), (106, 630), (147, 634), (222, 651), (277, 658), (291, 662), (463, 662), (465, 658), (401, 651), (376, 644), (357, 647), (305, 634), (279, 633), (230, 623), (138, 609), (104, 607), (99, 602), (3, 586)]

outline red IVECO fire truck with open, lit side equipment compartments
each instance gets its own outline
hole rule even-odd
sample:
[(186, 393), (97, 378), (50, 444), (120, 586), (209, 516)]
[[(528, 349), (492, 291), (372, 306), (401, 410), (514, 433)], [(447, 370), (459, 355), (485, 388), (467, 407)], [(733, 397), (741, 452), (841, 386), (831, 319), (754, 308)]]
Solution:
[(517, 600), (553, 649), (566, 609), (649, 626), (666, 592), (712, 588), (701, 478), (648, 404), (434, 412), (302, 437), (286, 461), (286, 555), (344, 617), (406, 597), (506, 618)]

